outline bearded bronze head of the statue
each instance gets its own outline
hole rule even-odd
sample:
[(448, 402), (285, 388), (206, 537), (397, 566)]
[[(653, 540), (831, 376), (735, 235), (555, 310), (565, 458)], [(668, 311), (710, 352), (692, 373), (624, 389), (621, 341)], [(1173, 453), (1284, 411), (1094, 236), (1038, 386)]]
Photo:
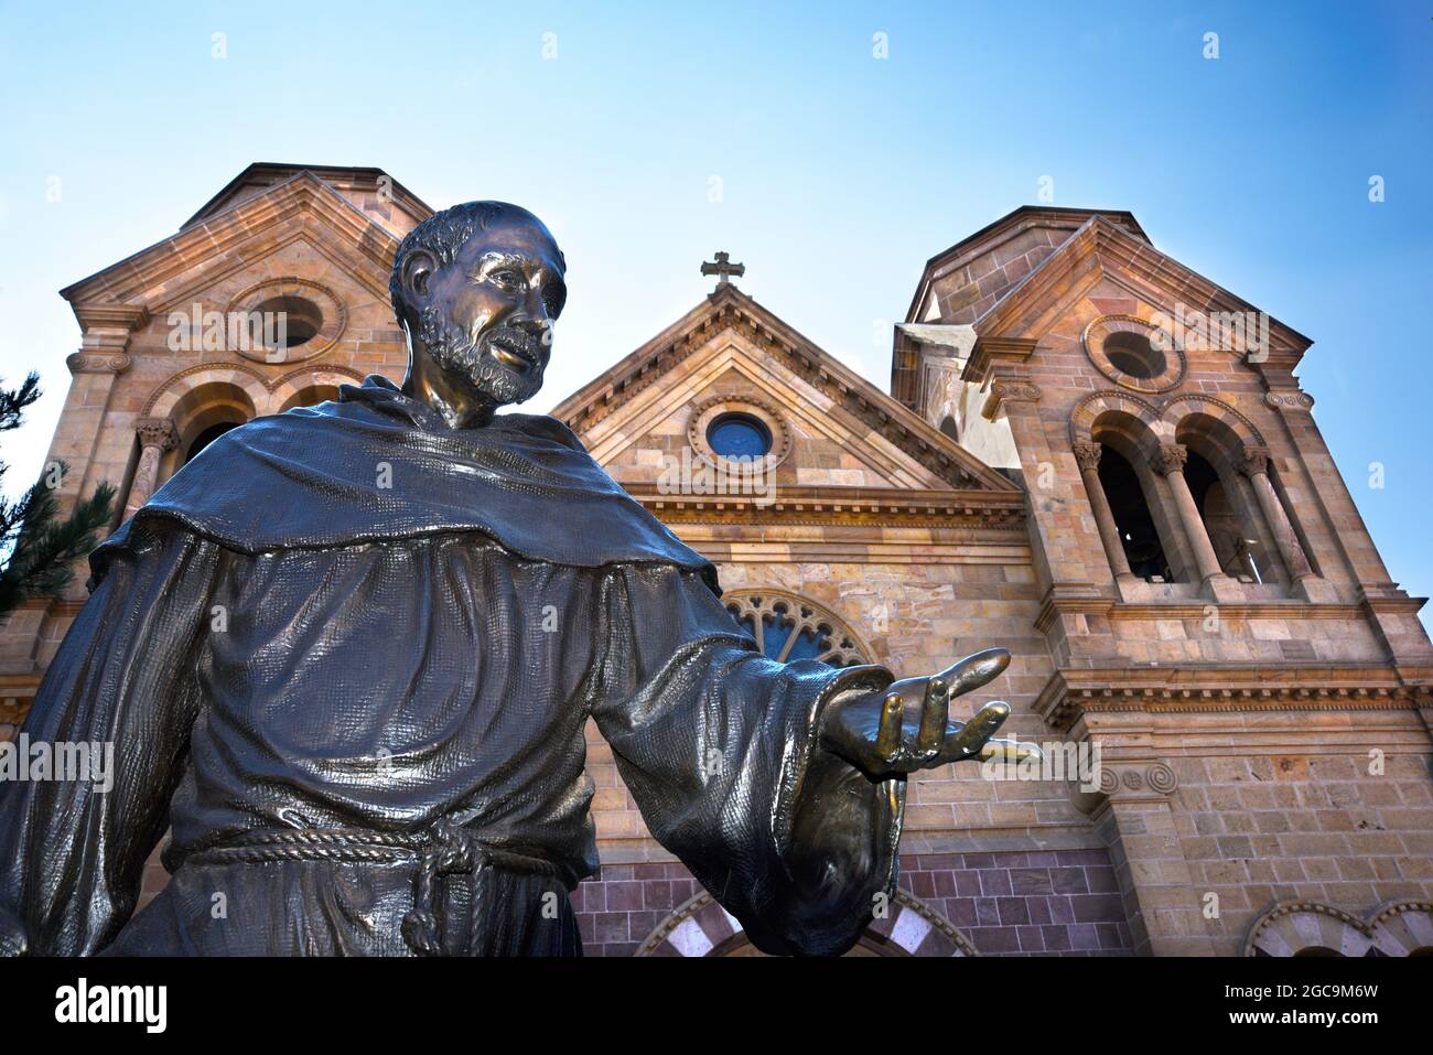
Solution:
[(408, 337), (403, 390), (461, 427), (542, 388), (567, 264), (527, 209), (467, 202), (403, 239), (388, 292)]

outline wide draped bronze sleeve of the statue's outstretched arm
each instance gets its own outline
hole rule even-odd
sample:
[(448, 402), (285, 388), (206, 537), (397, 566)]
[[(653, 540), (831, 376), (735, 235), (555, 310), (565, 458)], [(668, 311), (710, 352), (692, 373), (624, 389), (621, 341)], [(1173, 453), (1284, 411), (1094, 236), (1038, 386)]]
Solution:
[(906, 786), (824, 751), (820, 717), (891, 674), (765, 658), (691, 571), (599, 593), (593, 717), (652, 836), (764, 952), (848, 949), (894, 893)]

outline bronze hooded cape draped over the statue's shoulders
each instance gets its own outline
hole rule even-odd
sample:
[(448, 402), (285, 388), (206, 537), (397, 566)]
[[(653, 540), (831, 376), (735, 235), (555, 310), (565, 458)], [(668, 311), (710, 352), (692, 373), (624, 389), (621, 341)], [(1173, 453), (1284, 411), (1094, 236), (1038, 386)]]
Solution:
[(242, 553), (481, 532), (517, 556), (576, 568), (709, 560), (608, 476), (553, 417), (451, 429), (373, 374), (338, 400), (234, 429), (172, 476), (90, 556), (97, 583), (138, 520), (168, 519)]

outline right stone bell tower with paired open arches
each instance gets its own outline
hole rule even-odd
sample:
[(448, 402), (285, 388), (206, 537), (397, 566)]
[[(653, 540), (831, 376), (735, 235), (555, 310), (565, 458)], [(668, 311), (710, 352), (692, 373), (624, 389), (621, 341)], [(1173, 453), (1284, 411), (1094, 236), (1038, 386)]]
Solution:
[(1035, 707), (1103, 750), (1076, 800), (1136, 950), (1234, 955), (1285, 903), (1433, 893), (1423, 601), (1313, 420), (1310, 344), (1086, 209), (934, 257), (897, 327), (893, 396), (1025, 486)]

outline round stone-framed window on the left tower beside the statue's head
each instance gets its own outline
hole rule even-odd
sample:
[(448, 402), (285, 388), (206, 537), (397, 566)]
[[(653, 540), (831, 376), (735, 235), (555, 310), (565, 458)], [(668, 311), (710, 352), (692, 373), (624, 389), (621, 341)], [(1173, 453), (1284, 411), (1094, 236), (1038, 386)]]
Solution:
[(334, 292), (305, 278), (251, 285), (229, 301), (228, 312), (226, 330), (248, 337), (229, 351), (271, 366), (322, 355), (348, 324), (348, 312)]

